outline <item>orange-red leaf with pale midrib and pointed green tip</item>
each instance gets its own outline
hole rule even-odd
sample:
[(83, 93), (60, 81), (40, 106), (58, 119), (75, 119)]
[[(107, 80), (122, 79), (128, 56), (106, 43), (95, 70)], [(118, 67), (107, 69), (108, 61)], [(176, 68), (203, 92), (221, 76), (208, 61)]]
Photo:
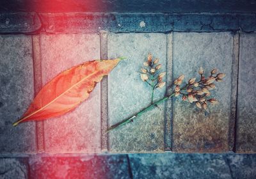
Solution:
[(45, 120), (65, 114), (89, 97), (97, 82), (118, 64), (120, 59), (87, 61), (54, 77), (36, 95), (22, 118), (13, 123)]

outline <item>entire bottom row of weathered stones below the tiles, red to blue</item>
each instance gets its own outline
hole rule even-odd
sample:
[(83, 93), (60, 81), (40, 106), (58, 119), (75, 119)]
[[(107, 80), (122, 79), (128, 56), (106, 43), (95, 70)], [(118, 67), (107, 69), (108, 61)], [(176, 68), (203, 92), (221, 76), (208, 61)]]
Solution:
[(256, 155), (129, 154), (0, 157), (0, 178), (254, 179)]

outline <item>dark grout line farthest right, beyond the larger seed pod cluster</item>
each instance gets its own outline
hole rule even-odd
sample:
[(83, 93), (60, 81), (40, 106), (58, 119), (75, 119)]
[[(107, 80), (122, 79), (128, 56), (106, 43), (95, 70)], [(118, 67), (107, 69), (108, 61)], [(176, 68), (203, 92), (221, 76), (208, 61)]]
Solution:
[(228, 130), (228, 150), (236, 152), (236, 127), (237, 127), (237, 88), (239, 70), (239, 33), (233, 38), (232, 76), (231, 76), (231, 113)]

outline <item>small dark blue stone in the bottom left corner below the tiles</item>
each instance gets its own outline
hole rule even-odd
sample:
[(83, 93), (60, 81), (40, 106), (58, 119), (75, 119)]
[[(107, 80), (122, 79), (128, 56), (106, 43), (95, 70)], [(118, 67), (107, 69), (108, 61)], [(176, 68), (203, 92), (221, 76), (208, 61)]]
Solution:
[(0, 178), (28, 178), (27, 158), (0, 158)]

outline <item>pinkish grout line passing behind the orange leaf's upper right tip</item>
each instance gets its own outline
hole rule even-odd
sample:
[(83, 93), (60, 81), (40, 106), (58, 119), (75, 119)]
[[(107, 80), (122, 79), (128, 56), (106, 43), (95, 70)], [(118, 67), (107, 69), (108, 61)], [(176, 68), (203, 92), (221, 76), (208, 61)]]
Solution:
[[(108, 59), (108, 32), (100, 31), (100, 59)], [(101, 151), (108, 152), (108, 77), (100, 82)]]

